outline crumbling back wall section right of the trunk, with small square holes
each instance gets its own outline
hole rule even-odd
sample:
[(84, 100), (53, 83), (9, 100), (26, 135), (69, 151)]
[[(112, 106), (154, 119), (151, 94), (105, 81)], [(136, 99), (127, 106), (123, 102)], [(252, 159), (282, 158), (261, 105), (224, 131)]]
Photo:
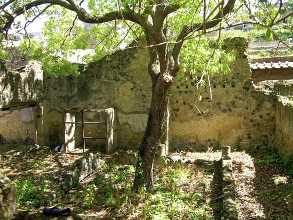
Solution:
[[(230, 39), (226, 46), (235, 50), (236, 61), (226, 75), (210, 77), (212, 99), (209, 87), (198, 91), (192, 81), (172, 85), (173, 148), (204, 150), (216, 142), (232, 147), (275, 146), (275, 100), (254, 89), (244, 38)], [(202, 101), (198, 101), (199, 93)]]

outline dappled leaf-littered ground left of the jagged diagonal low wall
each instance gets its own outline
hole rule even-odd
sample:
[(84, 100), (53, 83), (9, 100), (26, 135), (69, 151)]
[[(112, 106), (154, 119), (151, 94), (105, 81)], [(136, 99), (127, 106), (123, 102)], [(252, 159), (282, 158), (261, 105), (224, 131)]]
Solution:
[(35, 193), (42, 194), (45, 205), (49, 203), (47, 196), (59, 184), (59, 177), (71, 170), (74, 161), (81, 156), (55, 152), (54, 147), (21, 146), (11, 154), (2, 155), (0, 173), (16, 181), (18, 187), (30, 182), (30, 187), (38, 189)]

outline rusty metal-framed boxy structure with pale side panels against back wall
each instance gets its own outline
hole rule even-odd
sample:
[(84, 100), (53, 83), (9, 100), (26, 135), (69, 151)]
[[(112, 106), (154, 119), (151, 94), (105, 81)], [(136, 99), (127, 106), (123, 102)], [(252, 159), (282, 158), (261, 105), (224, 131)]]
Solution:
[(86, 146), (98, 146), (99, 151), (102, 146), (106, 153), (114, 150), (114, 108), (65, 111), (64, 151), (73, 151), (80, 145), (83, 152)]

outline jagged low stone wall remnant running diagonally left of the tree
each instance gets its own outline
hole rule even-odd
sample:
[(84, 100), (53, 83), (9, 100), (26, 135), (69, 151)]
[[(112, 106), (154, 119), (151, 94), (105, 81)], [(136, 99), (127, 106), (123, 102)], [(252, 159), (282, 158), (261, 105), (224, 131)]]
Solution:
[(94, 172), (100, 166), (100, 163), (100, 158), (93, 155), (93, 153), (90, 153), (83, 159), (76, 160), (73, 170), (68, 171), (60, 178), (60, 185), (55, 189), (56, 195), (67, 193), (72, 187)]

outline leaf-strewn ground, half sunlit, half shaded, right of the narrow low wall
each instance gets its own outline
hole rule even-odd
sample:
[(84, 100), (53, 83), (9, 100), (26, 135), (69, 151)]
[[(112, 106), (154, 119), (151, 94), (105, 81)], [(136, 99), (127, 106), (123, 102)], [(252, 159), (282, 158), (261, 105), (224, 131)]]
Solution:
[(293, 178), (284, 165), (262, 163), (270, 156), (266, 151), (240, 151), (231, 156), (239, 219), (287, 220)]

